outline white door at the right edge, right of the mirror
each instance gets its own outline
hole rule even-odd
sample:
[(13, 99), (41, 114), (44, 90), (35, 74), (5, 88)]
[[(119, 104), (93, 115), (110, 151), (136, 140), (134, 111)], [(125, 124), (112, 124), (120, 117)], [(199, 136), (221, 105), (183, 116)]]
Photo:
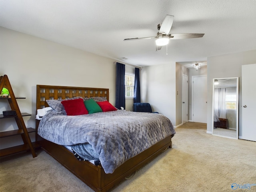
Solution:
[(256, 64), (242, 65), (242, 139), (256, 141)]

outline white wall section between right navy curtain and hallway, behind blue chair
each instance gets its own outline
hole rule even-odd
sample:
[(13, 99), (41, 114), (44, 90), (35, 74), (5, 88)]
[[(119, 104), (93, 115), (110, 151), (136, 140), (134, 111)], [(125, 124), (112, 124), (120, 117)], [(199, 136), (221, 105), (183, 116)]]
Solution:
[(140, 71), (141, 102), (168, 117), (176, 125), (176, 64), (147, 66)]

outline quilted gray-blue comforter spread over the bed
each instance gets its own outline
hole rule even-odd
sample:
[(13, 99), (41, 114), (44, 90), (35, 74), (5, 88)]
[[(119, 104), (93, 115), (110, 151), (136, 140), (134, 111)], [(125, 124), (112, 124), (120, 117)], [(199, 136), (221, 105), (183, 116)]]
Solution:
[(167, 136), (175, 134), (161, 114), (117, 110), (67, 116), (50, 110), (38, 127), (42, 138), (59, 145), (90, 144), (106, 173)]

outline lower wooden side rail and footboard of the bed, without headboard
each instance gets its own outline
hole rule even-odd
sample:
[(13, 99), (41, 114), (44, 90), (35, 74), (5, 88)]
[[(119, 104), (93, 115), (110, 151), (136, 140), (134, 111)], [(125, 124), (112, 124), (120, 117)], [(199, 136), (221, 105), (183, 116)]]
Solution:
[(96, 166), (88, 161), (78, 161), (74, 158), (74, 154), (63, 146), (45, 140), (40, 136), (38, 136), (38, 143), (55, 160), (97, 192), (106, 192), (166, 148), (172, 147), (171, 136), (168, 136), (144, 152), (124, 162), (114, 173), (106, 174), (100, 165)]

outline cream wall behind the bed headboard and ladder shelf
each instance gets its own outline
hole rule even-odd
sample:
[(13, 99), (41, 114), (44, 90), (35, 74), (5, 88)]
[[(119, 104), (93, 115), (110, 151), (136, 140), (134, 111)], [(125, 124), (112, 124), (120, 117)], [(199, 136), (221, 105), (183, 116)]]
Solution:
[[(18, 100), (21, 112), (32, 114), (24, 117), (26, 126), (35, 128), (36, 84), (109, 88), (115, 104), (114, 60), (2, 27), (0, 42), (0, 75), (7, 74), (15, 96), (26, 97)], [(8, 102), (0, 103), (3, 110), (10, 110)], [(14, 122), (1, 120), (0, 132), (17, 129)]]

